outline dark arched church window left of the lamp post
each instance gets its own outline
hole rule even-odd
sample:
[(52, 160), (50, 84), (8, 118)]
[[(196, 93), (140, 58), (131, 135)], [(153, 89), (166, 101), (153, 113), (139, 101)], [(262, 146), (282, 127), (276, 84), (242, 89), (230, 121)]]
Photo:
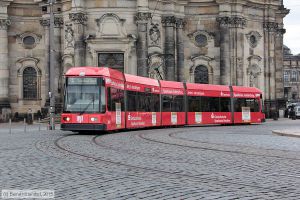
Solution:
[(37, 73), (33, 67), (23, 71), (23, 99), (37, 99)]

